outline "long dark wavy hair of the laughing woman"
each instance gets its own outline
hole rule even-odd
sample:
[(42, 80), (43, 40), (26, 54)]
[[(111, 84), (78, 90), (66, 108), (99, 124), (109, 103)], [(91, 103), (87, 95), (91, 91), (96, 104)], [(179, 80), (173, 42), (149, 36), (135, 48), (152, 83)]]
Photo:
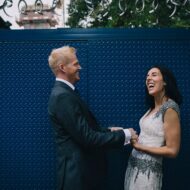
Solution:
[[(152, 66), (152, 68), (157, 68), (160, 70), (163, 80), (166, 83), (165, 86), (165, 95), (168, 98), (171, 98), (174, 100), (178, 105), (182, 103), (182, 96), (179, 92), (178, 86), (177, 86), (177, 81), (173, 75), (173, 73), (166, 67), (161, 66), (161, 65), (155, 65)], [(149, 69), (149, 70), (150, 70)], [(153, 109), (155, 107), (154, 105), (154, 97), (149, 95), (147, 87), (145, 87), (145, 94), (146, 94), (146, 104)]]

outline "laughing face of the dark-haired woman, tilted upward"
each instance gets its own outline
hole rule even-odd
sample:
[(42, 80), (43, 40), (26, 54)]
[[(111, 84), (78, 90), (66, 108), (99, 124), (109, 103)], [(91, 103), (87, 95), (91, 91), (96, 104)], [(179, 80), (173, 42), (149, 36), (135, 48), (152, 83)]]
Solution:
[(152, 68), (148, 71), (146, 77), (146, 87), (148, 89), (148, 93), (151, 96), (159, 96), (164, 92), (164, 84), (163, 76), (158, 68)]

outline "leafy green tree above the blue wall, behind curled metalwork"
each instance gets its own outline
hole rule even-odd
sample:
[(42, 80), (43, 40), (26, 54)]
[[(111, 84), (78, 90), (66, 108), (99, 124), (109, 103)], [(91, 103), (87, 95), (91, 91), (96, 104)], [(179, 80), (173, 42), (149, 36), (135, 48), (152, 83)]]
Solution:
[[(121, 0), (121, 6), (119, 6), (119, 0), (112, 0), (109, 4), (102, 4), (101, 0), (93, 0), (92, 4), (89, 2), (71, 0), (68, 26), (72, 28), (190, 27), (189, 1), (183, 5), (180, 4), (180, 0), (175, 0), (178, 4), (174, 5), (170, 1), (166, 4), (165, 0), (145, 0), (144, 9), (140, 0), (137, 3), (134, 0)], [(172, 15), (175, 8), (175, 14)]]

